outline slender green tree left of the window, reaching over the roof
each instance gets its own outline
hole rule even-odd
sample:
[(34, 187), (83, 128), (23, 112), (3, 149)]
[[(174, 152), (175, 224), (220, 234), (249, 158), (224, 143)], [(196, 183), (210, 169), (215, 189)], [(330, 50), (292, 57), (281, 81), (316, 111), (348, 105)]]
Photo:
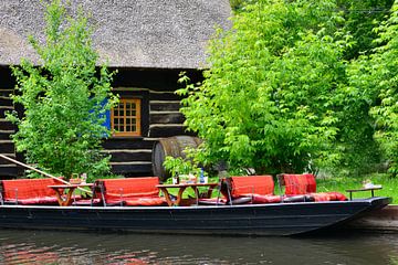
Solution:
[(115, 102), (113, 73), (105, 65), (96, 71), (98, 55), (82, 10), (76, 19), (66, 18), (61, 1), (54, 0), (46, 6), (45, 20), (45, 44), (30, 39), (40, 66), (22, 60), (12, 67), (19, 91), (13, 100), (24, 107), (23, 118), (8, 115), (19, 128), (13, 141), (28, 162), (51, 173), (107, 173), (109, 157), (101, 153), (101, 141), (109, 135), (102, 124)]

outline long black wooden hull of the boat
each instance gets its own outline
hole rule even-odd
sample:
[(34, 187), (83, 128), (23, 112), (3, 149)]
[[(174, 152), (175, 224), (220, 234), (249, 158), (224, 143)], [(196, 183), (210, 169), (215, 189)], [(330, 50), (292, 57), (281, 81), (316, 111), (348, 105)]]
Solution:
[(229, 235), (294, 235), (334, 227), (389, 198), (216, 206), (0, 205), (0, 227)]

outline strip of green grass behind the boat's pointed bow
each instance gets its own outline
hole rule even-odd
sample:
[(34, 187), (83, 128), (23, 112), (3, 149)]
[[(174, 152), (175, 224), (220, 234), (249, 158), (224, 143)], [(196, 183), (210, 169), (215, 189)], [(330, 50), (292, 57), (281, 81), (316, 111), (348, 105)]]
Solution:
[[(398, 202), (398, 178), (390, 178), (387, 174), (371, 174), (366, 177), (345, 177), (345, 178), (318, 178), (316, 179), (316, 190), (322, 191), (338, 191), (348, 197), (346, 190), (359, 189), (364, 181), (370, 180), (374, 184), (381, 184), (381, 190), (376, 190), (375, 195), (391, 197), (392, 203)], [(370, 191), (353, 192), (353, 198), (370, 197)]]

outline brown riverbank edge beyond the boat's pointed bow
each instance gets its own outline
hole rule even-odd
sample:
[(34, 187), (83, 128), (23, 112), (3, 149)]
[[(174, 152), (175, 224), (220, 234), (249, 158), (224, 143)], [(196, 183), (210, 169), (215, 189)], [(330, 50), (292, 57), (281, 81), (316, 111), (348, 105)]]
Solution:
[(365, 231), (398, 232), (398, 204), (388, 205), (355, 220), (349, 226)]

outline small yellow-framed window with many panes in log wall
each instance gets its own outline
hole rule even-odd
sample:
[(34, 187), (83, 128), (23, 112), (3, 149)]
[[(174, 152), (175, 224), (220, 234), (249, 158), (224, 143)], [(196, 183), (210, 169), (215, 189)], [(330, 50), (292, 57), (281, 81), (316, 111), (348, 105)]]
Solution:
[(140, 99), (122, 98), (111, 112), (113, 136), (140, 136)]

